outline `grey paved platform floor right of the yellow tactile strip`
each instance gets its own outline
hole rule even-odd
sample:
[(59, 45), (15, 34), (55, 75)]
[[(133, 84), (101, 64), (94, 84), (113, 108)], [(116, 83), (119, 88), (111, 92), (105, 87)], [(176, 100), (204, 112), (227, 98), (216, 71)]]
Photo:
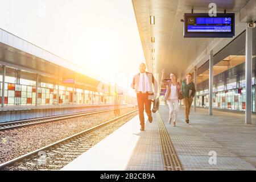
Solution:
[[(245, 125), (244, 114), (213, 110), (208, 115), (206, 109), (192, 108), (187, 124), (180, 108), (173, 127), (167, 123), (168, 106), (160, 106), (159, 113), (184, 170), (255, 170), (256, 125)], [(208, 162), (210, 151), (216, 151), (216, 165)]]

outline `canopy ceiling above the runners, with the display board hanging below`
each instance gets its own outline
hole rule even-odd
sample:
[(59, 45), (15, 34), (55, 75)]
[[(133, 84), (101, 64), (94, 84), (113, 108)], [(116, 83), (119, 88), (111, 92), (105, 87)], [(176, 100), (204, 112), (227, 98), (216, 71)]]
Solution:
[[(208, 13), (210, 3), (216, 3), (217, 13), (235, 13), (238, 36), (245, 30), (246, 21), (255, 20), (255, 1), (249, 0), (133, 0), (134, 12), (147, 67), (152, 72), (174, 72), (179, 78), (193, 72), (209, 59), (209, 52), (220, 51), (234, 38), (183, 38), (184, 13)], [(245, 13), (246, 12), (246, 13)], [(154, 16), (155, 24), (150, 23)], [(154, 39), (152, 41), (152, 39)]]

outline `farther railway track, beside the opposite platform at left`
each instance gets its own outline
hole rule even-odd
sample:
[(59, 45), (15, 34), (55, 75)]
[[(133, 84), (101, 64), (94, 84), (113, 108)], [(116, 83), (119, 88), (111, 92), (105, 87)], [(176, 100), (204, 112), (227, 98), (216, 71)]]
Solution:
[(90, 115), (90, 114), (104, 113), (106, 111), (113, 111), (113, 110), (114, 109), (100, 109), (100, 110), (84, 111), (84, 112), (72, 113), (72, 114), (55, 115), (55, 116), (51, 116), (51, 117), (34, 118), (34, 119), (26, 119), (26, 120), (22, 120), (22, 121), (0, 123), (0, 131), (7, 130), (7, 129), (14, 129), (16, 127), (36, 125), (38, 123), (59, 121), (61, 119), (69, 119), (69, 118), (76, 118), (76, 117), (81, 117), (81, 116), (85, 116), (85, 115)]

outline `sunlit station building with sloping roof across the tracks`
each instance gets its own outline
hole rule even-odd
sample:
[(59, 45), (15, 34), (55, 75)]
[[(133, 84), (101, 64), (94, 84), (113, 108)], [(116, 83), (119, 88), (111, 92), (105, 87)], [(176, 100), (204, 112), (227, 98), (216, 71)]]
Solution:
[(116, 95), (119, 104), (135, 101), (126, 90), (2, 29), (0, 47), (2, 122), (114, 105)]

